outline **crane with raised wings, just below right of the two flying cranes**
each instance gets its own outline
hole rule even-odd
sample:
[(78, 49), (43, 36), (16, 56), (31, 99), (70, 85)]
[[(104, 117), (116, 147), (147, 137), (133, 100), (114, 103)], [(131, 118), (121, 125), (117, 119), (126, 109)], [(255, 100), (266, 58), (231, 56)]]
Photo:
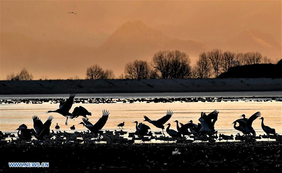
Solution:
[(79, 124), (82, 124), (83, 126), (88, 128), (91, 132), (98, 133), (107, 123), (107, 120), (109, 118), (109, 114), (110, 113), (107, 110), (103, 110), (102, 117), (99, 118), (97, 123), (95, 123), (94, 125), (92, 123), (90, 123), (89, 120), (86, 119), (86, 118), (82, 118), (83, 122), (81, 122)]

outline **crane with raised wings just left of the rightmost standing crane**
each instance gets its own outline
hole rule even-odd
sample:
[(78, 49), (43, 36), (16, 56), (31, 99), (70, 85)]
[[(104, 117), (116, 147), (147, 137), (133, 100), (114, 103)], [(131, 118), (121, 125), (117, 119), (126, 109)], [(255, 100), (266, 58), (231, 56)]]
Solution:
[[(261, 113), (260, 112), (256, 112), (254, 113), (250, 118), (248, 118), (247, 122), (245, 122), (242, 119), (238, 119), (236, 120), (236, 122), (239, 123), (239, 126), (241, 128), (241, 132), (243, 132), (243, 134), (250, 135), (250, 133), (253, 134), (253, 136), (256, 135), (256, 132), (254, 131), (253, 127), (252, 127), (252, 123), (255, 119), (257, 119), (258, 117), (260, 117)], [(241, 124), (240, 124), (241, 123)]]

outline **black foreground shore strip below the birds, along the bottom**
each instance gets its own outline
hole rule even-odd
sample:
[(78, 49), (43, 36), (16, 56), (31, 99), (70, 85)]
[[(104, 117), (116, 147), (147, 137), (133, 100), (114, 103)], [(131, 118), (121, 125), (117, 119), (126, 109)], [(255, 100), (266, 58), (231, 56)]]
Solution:
[[(175, 148), (179, 154), (173, 155)], [(0, 170), (279, 172), (281, 149), (281, 142), (5, 145)], [(9, 168), (8, 162), (49, 162), (49, 167)]]

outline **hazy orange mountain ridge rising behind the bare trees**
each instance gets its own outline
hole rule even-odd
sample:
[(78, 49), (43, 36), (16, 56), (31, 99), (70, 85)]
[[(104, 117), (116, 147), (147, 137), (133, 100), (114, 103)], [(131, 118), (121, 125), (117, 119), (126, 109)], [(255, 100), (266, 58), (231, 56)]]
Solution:
[(65, 40), (38, 41), (21, 33), (1, 32), (1, 79), (24, 67), (31, 73), (39, 73), (33, 73), (35, 79), (44, 75), (58, 78), (58, 74), (62, 79), (76, 75), (84, 78), (86, 68), (94, 64), (112, 69), (118, 76), (124, 72), (126, 63), (136, 59), (151, 61), (159, 50), (184, 51), (195, 63), (201, 52), (213, 48), (259, 51), (273, 59), (281, 56), (281, 44), (272, 35), (256, 30), (246, 30), (226, 43), (210, 43), (207, 46), (196, 40), (170, 38), (142, 21), (133, 21), (123, 23), (97, 48)]

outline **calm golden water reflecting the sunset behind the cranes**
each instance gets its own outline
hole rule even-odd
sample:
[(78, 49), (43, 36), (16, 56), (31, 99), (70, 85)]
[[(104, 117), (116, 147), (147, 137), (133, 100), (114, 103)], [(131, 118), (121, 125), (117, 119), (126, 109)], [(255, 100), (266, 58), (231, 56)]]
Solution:
[[(261, 92), (260, 95), (266, 96)], [(277, 93), (276, 93), (277, 94)], [(79, 96), (80, 94), (78, 94)], [(222, 95), (220, 93), (215, 95)], [(232, 95), (232, 94), (231, 94)], [(234, 95), (234, 94), (233, 94)], [(232, 96), (233, 96), (232, 95)], [(65, 96), (65, 95), (64, 95)], [(238, 96), (238, 95), (237, 95)], [(251, 96), (250, 93), (242, 94), (242, 96)], [(281, 95), (271, 95), (280, 97)], [(17, 96), (18, 97), (18, 96)], [(240, 97), (240, 96), (238, 96)], [(123, 97), (124, 98), (124, 97)], [(260, 111), (264, 117), (264, 124), (275, 128), (276, 132), (281, 134), (282, 130), (282, 102), (277, 101), (267, 101), (267, 102), (255, 102), (243, 100), (239, 101), (228, 101), (228, 102), (193, 102), (193, 103), (74, 103), (70, 112), (76, 106), (83, 106), (92, 116), (89, 116), (89, 121), (91, 123), (96, 123), (97, 120), (102, 115), (102, 110), (106, 109), (110, 112), (109, 119), (104, 126), (104, 130), (115, 130), (117, 124), (125, 122), (124, 131), (134, 132), (135, 123), (134, 121), (141, 122), (144, 120), (143, 116), (146, 115), (152, 120), (157, 120), (166, 114), (168, 109), (174, 112), (173, 116), (170, 118), (168, 123), (172, 124), (173, 129), (176, 130), (176, 123), (173, 122), (178, 120), (180, 123), (187, 123), (193, 120), (193, 123), (199, 123), (198, 118), (201, 115), (201, 111), (210, 113), (217, 109), (220, 113), (218, 115), (218, 120), (215, 124), (215, 129), (218, 133), (224, 133), (227, 135), (237, 134), (231, 124), (236, 119), (240, 118), (240, 115), (245, 114), (247, 118), (253, 113)], [(75, 125), (76, 131), (86, 131), (87, 129), (82, 125), (78, 125), (81, 122), (81, 118), (76, 118), (74, 120), (68, 120), (68, 126), (65, 126), (65, 117), (58, 113), (46, 114), (48, 110), (55, 110), (59, 108), (58, 104), (1, 104), (0, 105), (0, 131), (2, 132), (12, 132), (17, 133), (15, 129), (18, 128), (20, 124), (26, 124), (29, 128), (33, 128), (32, 116), (37, 115), (43, 121), (49, 117), (49, 115), (54, 116), (53, 123), (50, 129), (55, 129), (56, 123), (59, 124), (61, 131), (73, 132), (70, 130), (72, 125)], [(152, 132), (160, 131), (160, 129), (154, 127), (153, 125), (145, 122), (145, 124), (151, 127)], [(258, 118), (253, 122), (253, 128), (257, 134), (264, 134), (261, 129), (261, 120)]]

